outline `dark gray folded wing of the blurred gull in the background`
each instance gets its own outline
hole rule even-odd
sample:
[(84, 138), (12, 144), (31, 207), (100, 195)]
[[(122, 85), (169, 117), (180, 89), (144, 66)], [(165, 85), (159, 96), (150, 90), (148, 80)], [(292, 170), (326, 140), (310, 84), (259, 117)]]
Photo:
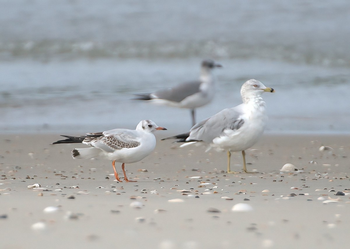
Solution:
[(173, 88), (155, 91), (152, 95), (155, 98), (166, 99), (174, 102), (181, 102), (190, 95), (200, 92), (202, 81), (190, 81)]

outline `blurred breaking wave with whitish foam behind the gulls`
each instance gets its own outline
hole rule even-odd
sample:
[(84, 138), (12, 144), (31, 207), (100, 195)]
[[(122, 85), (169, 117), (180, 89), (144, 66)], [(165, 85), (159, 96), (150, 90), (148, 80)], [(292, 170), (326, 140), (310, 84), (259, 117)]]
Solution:
[(266, 59), (288, 63), (350, 67), (348, 51), (320, 51), (292, 45), (248, 44), (220, 41), (152, 41), (152, 42), (71, 42), (28, 41), (0, 43), (0, 59), (31, 58), (76, 60), (100, 58), (186, 59)]

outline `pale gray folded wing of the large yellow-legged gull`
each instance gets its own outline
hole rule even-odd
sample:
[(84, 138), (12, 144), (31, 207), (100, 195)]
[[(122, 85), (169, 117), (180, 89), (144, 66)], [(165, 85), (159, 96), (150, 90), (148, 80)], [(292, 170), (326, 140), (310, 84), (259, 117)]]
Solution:
[(211, 143), (215, 137), (223, 135), (225, 129), (238, 130), (244, 124), (242, 114), (241, 105), (223, 109), (192, 127), (186, 141), (197, 140)]

